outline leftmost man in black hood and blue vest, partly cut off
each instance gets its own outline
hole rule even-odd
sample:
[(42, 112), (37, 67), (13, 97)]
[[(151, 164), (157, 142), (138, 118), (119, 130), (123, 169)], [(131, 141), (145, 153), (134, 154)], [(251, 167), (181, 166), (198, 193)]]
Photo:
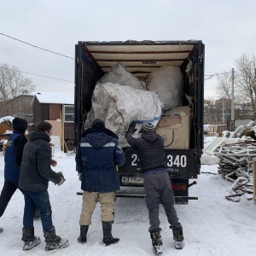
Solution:
[[(19, 188), (20, 165), (23, 154), (23, 148), (27, 143), (25, 136), (27, 122), (25, 119), (15, 118), (13, 120), (13, 134), (9, 137), (4, 154), (4, 183), (0, 195), (0, 218), (9, 204), (16, 189)], [(23, 193), (22, 189), (20, 191)], [(40, 212), (36, 211), (37, 218)], [(0, 228), (0, 233), (3, 228)]]

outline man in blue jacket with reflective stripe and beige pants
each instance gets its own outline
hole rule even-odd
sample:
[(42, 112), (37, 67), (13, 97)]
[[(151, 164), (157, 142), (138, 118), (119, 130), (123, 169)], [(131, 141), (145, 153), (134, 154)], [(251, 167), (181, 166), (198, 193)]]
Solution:
[(123, 166), (125, 154), (119, 147), (119, 137), (106, 129), (102, 119), (95, 119), (84, 131), (76, 155), (77, 171), (82, 174), (83, 205), (78, 241), (86, 242), (91, 215), (99, 200), (102, 205), (103, 244), (119, 242), (112, 236), (115, 191), (120, 189), (116, 166)]

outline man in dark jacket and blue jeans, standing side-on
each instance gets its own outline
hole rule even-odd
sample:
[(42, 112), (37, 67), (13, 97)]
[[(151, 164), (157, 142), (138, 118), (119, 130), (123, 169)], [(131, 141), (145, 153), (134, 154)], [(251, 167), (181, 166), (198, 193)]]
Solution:
[(55, 235), (55, 226), (51, 218), (52, 212), (47, 191), (49, 181), (59, 186), (65, 182), (63, 175), (54, 172), (50, 167), (56, 165), (56, 161), (51, 159), (49, 146), (51, 134), (52, 126), (48, 122), (40, 122), (37, 129), (28, 135), (29, 141), (24, 148), (20, 168), (20, 189), (24, 190), (25, 197), (22, 229), (23, 250), (30, 250), (41, 242), (38, 236), (34, 236), (32, 212), (36, 205), (41, 212), (46, 242), (45, 250), (50, 251), (68, 246), (67, 239), (61, 239), (60, 236)]

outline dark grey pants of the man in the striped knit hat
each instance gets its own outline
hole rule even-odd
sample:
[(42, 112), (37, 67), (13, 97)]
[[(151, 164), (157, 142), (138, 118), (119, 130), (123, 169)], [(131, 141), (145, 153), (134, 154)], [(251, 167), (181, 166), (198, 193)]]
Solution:
[(153, 171), (143, 175), (148, 207), (149, 232), (160, 230), (159, 204), (162, 203), (172, 228), (180, 226), (174, 208), (172, 183), (166, 171)]

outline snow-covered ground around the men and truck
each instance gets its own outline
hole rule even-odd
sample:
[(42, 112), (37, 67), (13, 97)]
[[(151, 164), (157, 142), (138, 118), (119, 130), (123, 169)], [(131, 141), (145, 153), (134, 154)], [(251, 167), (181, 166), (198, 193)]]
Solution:
[[(23, 242), (20, 239), (24, 199), (20, 191), (16, 191), (0, 218), (0, 226), (4, 229), (0, 234), (0, 255), (154, 255), (148, 233), (148, 211), (143, 199), (117, 198), (113, 236), (120, 238), (118, 244), (102, 246), (99, 205), (93, 214), (87, 243), (79, 244), (77, 237), (82, 196), (77, 195), (80, 182), (75, 171), (74, 155), (67, 156), (57, 151), (54, 158), (58, 162), (55, 172), (63, 172), (67, 181), (60, 187), (49, 183), (53, 223), (57, 235), (69, 240), (69, 247), (46, 253), (41, 221), (35, 221), (35, 235), (41, 237), (42, 243), (29, 252), (22, 251)], [(3, 166), (4, 159), (0, 152), (0, 189), (3, 188)], [(172, 230), (168, 228), (163, 208), (160, 208), (164, 255), (256, 255), (256, 205), (246, 199), (238, 203), (227, 201), (224, 196), (230, 195), (232, 183), (218, 175), (217, 167), (201, 167), (202, 173), (197, 179), (197, 185), (189, 189), (189, 195), (198, 196), (198, 201), (176, 206), (183, 224), (183, 250), (174, 248)]]

